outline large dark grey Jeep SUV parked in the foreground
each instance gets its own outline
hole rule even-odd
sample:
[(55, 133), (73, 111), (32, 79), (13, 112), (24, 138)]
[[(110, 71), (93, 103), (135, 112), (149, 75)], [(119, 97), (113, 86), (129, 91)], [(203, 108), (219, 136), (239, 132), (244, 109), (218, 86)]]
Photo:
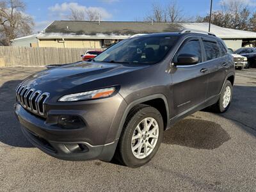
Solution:
[(212, 33), (141, 35), (28, 77), (14, 109), (28, 140), (53, 157), (138, 167), (175, 122), (207, 107), (227, 111), (234, 77), (233, 58)]

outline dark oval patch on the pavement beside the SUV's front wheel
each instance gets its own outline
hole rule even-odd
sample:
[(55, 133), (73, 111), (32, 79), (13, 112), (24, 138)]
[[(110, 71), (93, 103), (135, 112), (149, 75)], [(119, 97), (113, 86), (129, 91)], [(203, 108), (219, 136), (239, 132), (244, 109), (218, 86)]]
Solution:
[(230, 140), (221, 125), (202, 119), (184, 119), (164, 132), (163, 143), (191, 148), (214, 149)]

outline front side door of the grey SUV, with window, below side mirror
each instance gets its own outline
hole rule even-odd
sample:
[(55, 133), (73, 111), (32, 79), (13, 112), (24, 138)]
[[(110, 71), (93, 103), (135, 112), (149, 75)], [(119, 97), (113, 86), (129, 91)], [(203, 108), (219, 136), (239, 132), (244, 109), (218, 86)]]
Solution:
[[(180, 54), (198, 56), (199, 62), (195, 65), (179, 65), (177, 57)], [(172, 63), (177, 63), (172, 72), (173, 111), (172, 116), (186, 113), (205, 100), (207, 89), (207, 72), (202, 63), (202, 47), (198, 37), (187, 38), (173, 57)]]

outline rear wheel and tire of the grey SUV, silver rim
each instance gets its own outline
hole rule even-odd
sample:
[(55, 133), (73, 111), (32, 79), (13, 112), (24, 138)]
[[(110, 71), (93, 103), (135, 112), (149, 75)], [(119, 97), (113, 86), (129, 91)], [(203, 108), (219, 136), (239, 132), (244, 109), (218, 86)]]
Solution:
[(221, 91), (220, 99), (212, 106), (212, 111), (224, 113), (228, 110), (232, 100), (233, 87), (230, 81), (226, 81)]

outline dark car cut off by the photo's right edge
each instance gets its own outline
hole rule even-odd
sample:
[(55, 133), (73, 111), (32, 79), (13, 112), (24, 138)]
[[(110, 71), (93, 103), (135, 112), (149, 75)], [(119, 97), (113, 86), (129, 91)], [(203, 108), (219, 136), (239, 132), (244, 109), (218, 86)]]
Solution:
[(235, 53), (247, 58), (248, 64), (245, 68), (256, 67), (256, 49), (254, 47), (242, 47), (237, 49)]

